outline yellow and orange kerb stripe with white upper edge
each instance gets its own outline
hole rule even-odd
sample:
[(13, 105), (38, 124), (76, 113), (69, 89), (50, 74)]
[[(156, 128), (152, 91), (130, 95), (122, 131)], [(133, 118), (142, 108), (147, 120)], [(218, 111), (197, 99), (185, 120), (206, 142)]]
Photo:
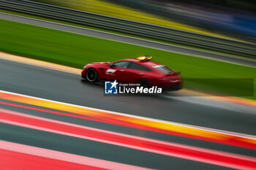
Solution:
[[(118, 112), (109, 112), (102, 109), (81, 107), (74, 104), (65, 104), (58, 101), (50, 101), (43, 98), (35, 98), (32, 96), (25, 96), (18, 93), (10, 93), (4, 90), (0, 90), (0, 98), (10, 101), (18, 101), (26, 104), (34, 104), (40, 107), (59, 109), (65, 112), (72, 112), (80, 115), (99, 117), (103, 120), (110, 120), (113, 124), (116, 125), (140, 128), (148, 131), (157, 131), (160, 133), (173, 134), (176, 136), (185, 136), (210, 142), (230, 144), (233, 146), (245, 147), (256, 150), (255, 136), (235, 134), (232, 132), (218, 131), (201, 127), (199, 128), (192, 125), (172, 123), (169, 121), (155, 120), (148, 117), (138, 117)], [(109, 122), (106, 121), (106, 123)]]

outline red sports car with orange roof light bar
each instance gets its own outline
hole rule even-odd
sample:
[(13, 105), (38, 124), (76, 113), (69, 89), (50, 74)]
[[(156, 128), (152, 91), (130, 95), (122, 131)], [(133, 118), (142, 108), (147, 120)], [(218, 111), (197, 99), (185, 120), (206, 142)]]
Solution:
[(181, 72), (173, 72), (166, 66), (151, 61), (151, 56), (140, 56), (121, 61), (89, 63), (83, 67), (82, 77), (89, 82), (117, 80), (122, 83), (139, 83), (158, 86), (165, 90), (182, 88)]

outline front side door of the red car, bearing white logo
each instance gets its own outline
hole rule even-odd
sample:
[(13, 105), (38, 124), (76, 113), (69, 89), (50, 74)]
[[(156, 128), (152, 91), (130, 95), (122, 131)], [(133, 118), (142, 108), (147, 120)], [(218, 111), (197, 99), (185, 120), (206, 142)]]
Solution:
[(116, 63), (110, 64), (109, 68), (105, 71), (105, 79), (107, 80), (118, 80), (125, 72), (129, 65), (129, 61), (118, 61)]

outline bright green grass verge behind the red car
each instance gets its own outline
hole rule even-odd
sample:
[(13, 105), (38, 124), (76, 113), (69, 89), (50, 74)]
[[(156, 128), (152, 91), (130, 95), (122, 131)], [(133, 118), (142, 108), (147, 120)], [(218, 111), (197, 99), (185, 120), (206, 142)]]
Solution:
[[(154, 57), (154, 61), (165, 63), (170, 68), (181, 71), (184, 78), (255, 79), (256, 77), (256, 68), (252, 67), (195, 58), (189, 55), (170, 53), (7, 20), (0, 20), (0, 24), (1, 51), (80, 69), (83, 68), (85, 63), (116, 61), (148, 54)], [(187, 83), (188, 87), (195, 85), (195, 82), (188, 81)], [(217, 88), (222, 88), (215, 85), (211, 86), (214, 91), (218, 90)], [(230, 85), (230, 87), (233, 87), (233, 85)], [(255, 95), (249, 98), (255, 98)]]

